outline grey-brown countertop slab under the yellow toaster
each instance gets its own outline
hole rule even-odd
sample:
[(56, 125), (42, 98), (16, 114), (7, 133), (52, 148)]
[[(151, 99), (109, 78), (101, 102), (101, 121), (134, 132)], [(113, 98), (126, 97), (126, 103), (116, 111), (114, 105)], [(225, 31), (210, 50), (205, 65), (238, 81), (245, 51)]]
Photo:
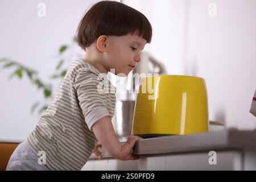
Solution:
[[(256, 131), (228, 129), (201, 134), (170, 135), (141, 139), (135, 143), (133, 152), (135, 155), (140, 156), (154, 156), (245, 149), (256, 151)], [(113, 158), (104, 147), (101, 147), (101, 154), (102, 159)], [(92, 154), (90, 159), (97, 159), (97, 156)]]

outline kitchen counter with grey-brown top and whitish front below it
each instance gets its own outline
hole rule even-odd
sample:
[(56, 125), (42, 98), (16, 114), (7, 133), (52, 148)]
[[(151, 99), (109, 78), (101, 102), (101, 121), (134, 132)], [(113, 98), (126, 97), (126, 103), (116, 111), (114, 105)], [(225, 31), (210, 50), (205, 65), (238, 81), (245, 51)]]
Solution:
[[(141, 139), (139, 160), (114, 159), (102, 147), (82, 170), (256, 170), (256, 132), (236, 129)], [(213, 159), (214, 158), (214, 159)]]

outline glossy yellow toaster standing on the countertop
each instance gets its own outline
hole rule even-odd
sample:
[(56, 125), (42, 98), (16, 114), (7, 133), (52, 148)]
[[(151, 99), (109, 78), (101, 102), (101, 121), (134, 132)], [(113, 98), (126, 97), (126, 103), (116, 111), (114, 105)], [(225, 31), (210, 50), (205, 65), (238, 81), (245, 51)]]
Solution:
[(142, 138), (209, 131), (207, 88), (201, 77), (142, 78), (134, 110), (131, 134)]

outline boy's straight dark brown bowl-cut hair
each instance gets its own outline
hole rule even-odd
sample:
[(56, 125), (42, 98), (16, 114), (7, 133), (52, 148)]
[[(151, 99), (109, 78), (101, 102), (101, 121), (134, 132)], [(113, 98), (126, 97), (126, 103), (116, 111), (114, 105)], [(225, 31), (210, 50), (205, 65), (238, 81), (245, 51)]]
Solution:
[(138, 31), (147, 43), (152, 37), (152, 27), (146, 16), (115, 1), (100, 1), (93, 5), (81, 19), (77, 30), (77, 43), (84, 50), (101, 35), (124, 36)]

